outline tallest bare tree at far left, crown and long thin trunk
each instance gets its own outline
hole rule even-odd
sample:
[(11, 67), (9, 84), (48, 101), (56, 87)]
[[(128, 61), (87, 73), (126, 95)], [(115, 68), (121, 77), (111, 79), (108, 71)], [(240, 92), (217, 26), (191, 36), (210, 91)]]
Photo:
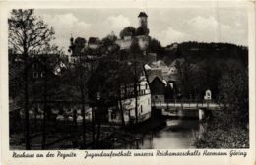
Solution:
[(40, 52), (54, 39), (54, 30), (34, 15), (33, 9), (14, 9), (8, 19), (8, 47), (22, 54), (24, 63), (24, 111), (26, 149), (31, 149), (29, 123), (28, 60), (32, 53)]

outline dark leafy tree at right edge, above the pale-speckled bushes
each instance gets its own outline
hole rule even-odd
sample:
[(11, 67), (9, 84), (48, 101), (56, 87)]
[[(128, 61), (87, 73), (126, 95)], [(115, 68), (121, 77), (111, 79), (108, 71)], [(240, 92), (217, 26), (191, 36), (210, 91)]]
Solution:
[(219, 101), (231, 122), (248, 124), (248, 70), (229, 69), (220, 81)]

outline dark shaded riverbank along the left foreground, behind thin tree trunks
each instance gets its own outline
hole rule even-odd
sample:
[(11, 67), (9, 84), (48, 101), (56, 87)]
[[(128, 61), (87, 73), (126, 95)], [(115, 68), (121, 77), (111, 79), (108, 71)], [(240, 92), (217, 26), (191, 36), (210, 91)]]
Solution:
[[(40, 130), (42, 121), (37, 121), (37, 129), (31, 128), (31, 147), (33, 150), (41, 149), (42, 132)], [(35, 126), (34, 121), (31, 121)], [(47, 135), (45, 148), (50, 149), (115, 149), (123, 148), (129, 143), (141, 141), (143, 136), (154, 130), (165, 126), (164, 119), (150, 118), (147, 121), (132, 126), (121, 128), (112, 124), (101, 124), (99, 141), (93, 144), (92, 125), (86, 123), (86, 144), (82, 141), (82, 124), (76, 126), (72, 121), (58, 121), (47, 123)], [(95, 127), (95, 140), (97, 139), (97, 125)], [(93, 146), (94, 145), (94, 146)], [(25, 149), (25, 140), (22, 132), (13, 133), (10, 136), (10, 149)]]

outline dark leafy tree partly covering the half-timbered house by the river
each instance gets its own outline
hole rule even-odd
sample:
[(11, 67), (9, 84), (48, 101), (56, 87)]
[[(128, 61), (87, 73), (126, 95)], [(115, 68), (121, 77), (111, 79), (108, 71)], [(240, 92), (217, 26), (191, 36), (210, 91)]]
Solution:
[[(90, 79), (91, 98), (96, 100), (96, 91), (100, 93), (101, 101), (113, 101), (119, 107), (122, 119), (122, 126), (125, 126), (123, 105), (123, 94), (121, 88), (127, 84), (134, 84), (134, 93), (136, 102), (138, 102), (137, 86), (143, 66), (142, 51), (138, 45), (138, 41), (134, 40), (131, 48), (126, 52), (126, 58), (111, 58), (111, 56), (119, 56), (123, 52), (114, 49), (106, 58), (100, 61), (95, 74)], [(135, 104), (138, 111), (137, 104)], [(136, 113), (138, 121), (138, 112)]]

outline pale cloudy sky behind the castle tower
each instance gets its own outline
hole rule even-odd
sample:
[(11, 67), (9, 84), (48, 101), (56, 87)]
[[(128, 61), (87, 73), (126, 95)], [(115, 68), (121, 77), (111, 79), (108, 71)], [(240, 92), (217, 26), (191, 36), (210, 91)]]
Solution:
[(66, 51), (71, 34), (102, 38), (124, 27), (138, 27), (138, 14), (148, 14), (150, 36), (162, 46), (173, 42), (229, 42), (247, 46), (246, 8), (40, 9), (35, 10), (56, 32), (56, 44)]

